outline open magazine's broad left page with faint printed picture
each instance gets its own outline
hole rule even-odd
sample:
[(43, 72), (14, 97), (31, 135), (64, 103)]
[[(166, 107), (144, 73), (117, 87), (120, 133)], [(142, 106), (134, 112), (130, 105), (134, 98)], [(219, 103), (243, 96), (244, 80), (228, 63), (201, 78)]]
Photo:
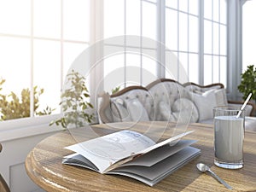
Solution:
[(152, 139), (136, 131), (118, 131), (107, 136), (68, 146), (67, 149), (83, 155), (104, 172), (115, 162), (153, 146)]

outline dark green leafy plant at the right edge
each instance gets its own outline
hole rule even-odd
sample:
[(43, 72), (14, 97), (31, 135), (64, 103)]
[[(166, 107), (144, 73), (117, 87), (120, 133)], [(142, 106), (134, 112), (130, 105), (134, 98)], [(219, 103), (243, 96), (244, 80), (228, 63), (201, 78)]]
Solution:
[(252, 99), (256, 102), (256, 67), (248, 66), (247, 70), (241, 73), (241, 84), (237, 88), (243, 94), (244, 100), (252, 93)]

